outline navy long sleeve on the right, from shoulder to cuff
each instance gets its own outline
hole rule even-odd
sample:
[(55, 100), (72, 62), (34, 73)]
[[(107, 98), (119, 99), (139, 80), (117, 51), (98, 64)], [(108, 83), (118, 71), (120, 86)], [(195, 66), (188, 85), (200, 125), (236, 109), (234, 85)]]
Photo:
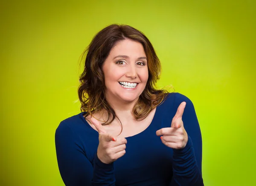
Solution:
[(186, 102), (186, 108), (182, 120), (188, 142), (183, 149), (173, 150), (173, 177), (170, 186), (203, 186), (201, 131), (194, 106), (186, 96), (177, 93), (174, 108), (177, 110), (183, 101)]

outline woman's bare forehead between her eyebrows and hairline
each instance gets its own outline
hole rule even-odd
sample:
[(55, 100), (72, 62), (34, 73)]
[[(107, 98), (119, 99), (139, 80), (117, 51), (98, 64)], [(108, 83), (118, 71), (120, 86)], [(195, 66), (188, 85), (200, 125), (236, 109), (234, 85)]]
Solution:
[(128, 55), (146, 57), (143, 45), (140, 42), (125, 39), (119, 41), (110, 51), (109, 55)]

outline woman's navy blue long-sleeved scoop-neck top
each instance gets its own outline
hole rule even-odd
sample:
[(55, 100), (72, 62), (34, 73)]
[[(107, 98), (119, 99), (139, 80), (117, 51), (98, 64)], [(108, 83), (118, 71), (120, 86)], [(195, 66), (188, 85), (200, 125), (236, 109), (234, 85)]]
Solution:
[[(188, 142), (172, 149), (156, 131), (171, 127), (181, 102)], [(157, 107), (151, 124), (126, 137), (126, 153), (111, 164), (96, 155), (99, 134), (84, 119), (85, 112), (65, 119), (55, 133), (58, 167), (66, 186), (202, 186), (202, 138), (192, 102), (180, 93), (169, 93)]]

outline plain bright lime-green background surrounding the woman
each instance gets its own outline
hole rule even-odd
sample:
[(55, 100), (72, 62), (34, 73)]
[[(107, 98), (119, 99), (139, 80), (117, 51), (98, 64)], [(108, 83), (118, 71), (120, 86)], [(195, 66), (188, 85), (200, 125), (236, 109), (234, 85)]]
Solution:
[(0, 185), (64, 186), (55, 129), (79, 113), (79, 57), (111, 23), (144, 32), (163, 65), (158, 86), (194, 103), (205, 185), (256, 185), (254, 2), (1, 1)]

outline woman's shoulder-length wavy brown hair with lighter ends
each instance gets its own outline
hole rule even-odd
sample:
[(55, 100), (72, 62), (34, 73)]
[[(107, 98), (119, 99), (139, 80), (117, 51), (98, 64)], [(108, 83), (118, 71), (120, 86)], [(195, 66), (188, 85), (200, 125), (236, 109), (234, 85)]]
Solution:
[[(163, 102), (168, 93), (167, 90), (157, 90), (155, 88), (156, 82), (160, 78), (161, 64), (148, 38), (139, 30), (128, 25), (112, 24), (107, 26), (94, 36), (90, 45), (82, 54), (81, 61), (84, 61), (85, 58), (85, 63), (84, 71), (79, 77), (81, 84), (78, 88), (81, 111), (86, 112), (84, 117), (93, 116), (94, 113), (107, 110), (108, 120), (104, 121), (102, 125), (110, 124), (117, 117), (115, 111), (105, 99), (105, 79), (102, 64), (111, 49), (119, 41), (125, 39), (140, 42), (148, 61), (148, 81), (132, 110), (134, 117), (137, 120), (144, 119), (151, 110)], [(111, 121), (109, 122), (109, 120)]]

